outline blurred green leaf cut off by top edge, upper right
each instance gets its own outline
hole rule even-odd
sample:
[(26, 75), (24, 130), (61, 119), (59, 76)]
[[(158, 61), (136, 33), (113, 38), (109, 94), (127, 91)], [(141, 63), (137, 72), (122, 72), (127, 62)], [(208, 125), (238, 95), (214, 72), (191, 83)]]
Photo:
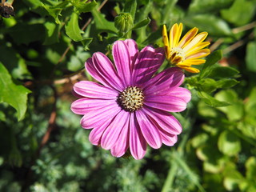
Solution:
[(217, 12), (229, 8), (233, 2), (234, 0), (193, 0), (190, 3), (189, 12), (197, 14)]

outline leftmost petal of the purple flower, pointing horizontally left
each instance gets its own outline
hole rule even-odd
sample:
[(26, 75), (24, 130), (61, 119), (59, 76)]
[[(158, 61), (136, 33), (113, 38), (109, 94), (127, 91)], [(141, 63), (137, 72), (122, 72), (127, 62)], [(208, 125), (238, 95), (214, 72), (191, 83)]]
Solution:
[(110, 105), (117, 106), (117, 103), (114, 99), (79, 98), (71, 104), (71, 110), (74, 114), (86, 114), (91, 110), (98, 110)]

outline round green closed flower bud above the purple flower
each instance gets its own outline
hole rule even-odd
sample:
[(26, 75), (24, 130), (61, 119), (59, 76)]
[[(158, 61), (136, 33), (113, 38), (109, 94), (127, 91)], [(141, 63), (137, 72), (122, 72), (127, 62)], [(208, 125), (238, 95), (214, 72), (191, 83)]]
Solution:
[(134, 19), (129, 13), (118, 14), (118, 16), (114, 18), (114, 26), (121, 33), (127, 33), (134, 26)]

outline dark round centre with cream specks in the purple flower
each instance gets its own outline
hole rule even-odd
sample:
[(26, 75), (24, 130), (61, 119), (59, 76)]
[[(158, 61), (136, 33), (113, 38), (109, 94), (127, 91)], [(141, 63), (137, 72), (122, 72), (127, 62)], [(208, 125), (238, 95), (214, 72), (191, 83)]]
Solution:
[(142, 108), (144, 94), (137, 86), (128, 86), (118, 95), (118, 103), (123, 110), (134, 112)]

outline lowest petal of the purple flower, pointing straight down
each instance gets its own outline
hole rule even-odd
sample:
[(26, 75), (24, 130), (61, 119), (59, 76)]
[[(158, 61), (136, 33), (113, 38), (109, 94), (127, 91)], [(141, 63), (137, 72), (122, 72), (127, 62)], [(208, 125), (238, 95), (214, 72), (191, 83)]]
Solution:
[(146, 154), (146, 141), (143, 138), (140, 127), (134, 113), (130, 114), (130, 154), (135, 159), (141, 159)]

